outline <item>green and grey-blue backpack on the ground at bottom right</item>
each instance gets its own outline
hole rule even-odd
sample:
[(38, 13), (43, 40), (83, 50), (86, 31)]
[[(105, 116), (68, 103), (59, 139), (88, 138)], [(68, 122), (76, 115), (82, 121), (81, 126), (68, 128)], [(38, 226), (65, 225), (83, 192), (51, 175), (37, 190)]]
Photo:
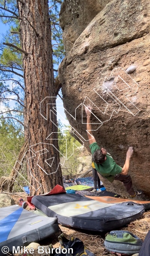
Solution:
[(126, 230), (111, 231), (105, 236), (105, 248), (114, 254), (132, 255), (139, 253), (142, 240)]

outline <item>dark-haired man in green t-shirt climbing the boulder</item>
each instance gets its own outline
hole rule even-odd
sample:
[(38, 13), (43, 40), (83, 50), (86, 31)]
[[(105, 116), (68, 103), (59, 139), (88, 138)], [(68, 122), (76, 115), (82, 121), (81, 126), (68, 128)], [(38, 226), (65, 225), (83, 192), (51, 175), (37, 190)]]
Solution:
[(100, 149), (96, 143), (96, 140), (92, 134), (92, 125), (90, 120), (92, 108), (86, 107), (85, 111), (87, 114), (87, 135), (92, 153), (92, 161), (95, 164), (97, 172), (100, 173), (100, 175), (105, 179), (108, 179), (110, 182), (113, 182), (114, 180), (123, 182), (123, 185), (126, 188), (127, 193), (129, 193), (130, 197), (141, 195), (141, 191), (134, 191), (131, 177), (128, 175), (130, 158), (133, 155), (133, 148), (129, 147), (126, 153), (126, 161), (123, 168), (118, 166), (113, 158), (107, 154), (106, 149)]

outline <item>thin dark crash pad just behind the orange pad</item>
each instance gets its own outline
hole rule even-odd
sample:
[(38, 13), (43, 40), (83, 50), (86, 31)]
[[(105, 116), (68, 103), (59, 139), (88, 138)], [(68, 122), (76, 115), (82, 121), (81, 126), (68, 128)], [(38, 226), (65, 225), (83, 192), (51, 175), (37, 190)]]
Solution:
[(101, 196), (105, 196), (105, 197), (119, 197), (120, 195), (118, 194), (115, 194), (113, 192), (110, 192), (110, 191), (101, 191), (101, 192), (92, 192), (92, 191), (84, 191), (84, 190), (81, 190), (81, 191), (76, 191), (75, 192), (76, 194), (80, 194), (81, 196), (89, 196), (89, 198), (92, 198), (94, 200), (96, 200), (95, 198), (93, 197), (101, 197)]

